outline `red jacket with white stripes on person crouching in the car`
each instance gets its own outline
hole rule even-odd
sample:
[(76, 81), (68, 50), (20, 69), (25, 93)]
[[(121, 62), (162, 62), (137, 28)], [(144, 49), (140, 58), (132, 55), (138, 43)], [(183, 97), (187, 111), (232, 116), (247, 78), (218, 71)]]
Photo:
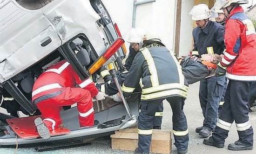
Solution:
[(32, 92), (32, 100), (49, 93), (60, 91), (65, 87), (74, 88), (76, 83), (83, 89), (89, 90), (91, 97), (98, 94), (93, 81), (90, 78), (82, 81), (74, 68), (66, 60), (49, 67), (35, 81)]

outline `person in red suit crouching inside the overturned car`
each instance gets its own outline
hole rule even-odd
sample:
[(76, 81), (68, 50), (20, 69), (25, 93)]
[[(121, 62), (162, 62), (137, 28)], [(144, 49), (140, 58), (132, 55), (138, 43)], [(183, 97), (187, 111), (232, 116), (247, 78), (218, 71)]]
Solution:
[(74, 103), (77, 103), (80, 127), (93, 126), (94, 96), (97, 100), (105, 99), (105, 94), (97, 90), (92, 80), (82, 81), (66, 60), (49, 67), (35, 81), (32, 92), (32, 101), (45, 118), (43, 121), (40, 118), (35, 120), (39, 135), (49, 138), (49, 131), (58, 128), (62, 122), (60, 107)]

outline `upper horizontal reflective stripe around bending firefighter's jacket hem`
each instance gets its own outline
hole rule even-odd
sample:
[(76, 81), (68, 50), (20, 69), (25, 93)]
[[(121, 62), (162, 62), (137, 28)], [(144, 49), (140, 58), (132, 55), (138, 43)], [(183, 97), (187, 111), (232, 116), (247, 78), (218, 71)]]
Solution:
[(168, 84), (158, 85), (156, 87), (150, 87), (150, 88), (143, 89), (142, 94), (156, 92), (159, 90), (168, 90), (168, 89), (181, 89), (181, 90), (184, 90), (187, 92), (189, 87), (184, 84), (181, 84), (181, 83), (168, 83)]

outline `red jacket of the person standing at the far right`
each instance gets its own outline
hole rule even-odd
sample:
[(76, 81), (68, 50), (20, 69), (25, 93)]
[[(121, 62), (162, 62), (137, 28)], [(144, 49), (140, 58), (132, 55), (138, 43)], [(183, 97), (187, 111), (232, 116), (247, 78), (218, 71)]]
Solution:
[(237, 81), (256, 81), (256, 32), (241, 6), (226, 19), (226, 51), (221, 60), (227, 66), (226, 77)]

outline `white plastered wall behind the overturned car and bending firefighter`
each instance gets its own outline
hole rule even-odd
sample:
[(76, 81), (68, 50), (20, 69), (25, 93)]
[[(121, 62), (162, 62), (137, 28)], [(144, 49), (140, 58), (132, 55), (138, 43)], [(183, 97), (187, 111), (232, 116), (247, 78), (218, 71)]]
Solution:
[[(141, 1), (141, 0), (137, 0)], [(111, 18), (117, 23), (123, 38), (132, 27), (134, 0), (102, 0)], [(194, 0), (182, 0), (179, 56), (188, 55), (192, 46), (192, 20), (188, 15)], [(137, 6), (135, 27), (144, 28), (148, 38), (158, 37), (169, 48), (175, 48), (176, 0), (156, 0)], [(127, 44), (128, 45), (128, 44)]]

